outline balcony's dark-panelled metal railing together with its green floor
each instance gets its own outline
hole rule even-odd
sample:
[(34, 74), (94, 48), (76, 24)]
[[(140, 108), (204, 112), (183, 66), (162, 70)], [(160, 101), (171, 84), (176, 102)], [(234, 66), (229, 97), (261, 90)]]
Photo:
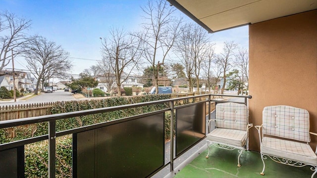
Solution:
[[(73, 178), (262, 177), (262, 161), (256, 151), (242, 154), (240, 168), (236, 166), (236, 151), (224, 152), (212, 147), (210, 158), (205, 158), (208, 151), (205, 141), (208, 134), (206, 119), (212, 117), (208, 113), (212, 113), (215, 103), (225, 102), (215, 99), (219, 97), (237, 97), (246, 105), (251, 99), (251, 96), (207, 94), (1, 121), (0, 129), (48, 123), (48, 134), (0, 144), (0, 177), (39, 177), (37, 172), (25, 176), (25, 148), (34, 142), (43, 141), (48, 142), (47, 152), (36, 156), (48, 156), (45, 164), (50, 178), (70, 177), (65, 176), (67, 174)], [(70, 130), (56, 130), (56, 123), (67, 119), (101, 116), (112, 111), (148, 106), (156, 106), (158, 110)], [(166, 119), (168, 115), (174, 116), (174, 122)], [(166, 142), (168, 130), (175, 131), (170, 132), (170, 141)], [(72, 156), (69, 158), (72, 165), (67, 174), (56, 168), (61, 156), (58, 155), (60, 148), (57, 145), (63, 137), (72, 140)], [(172, 154), (169, 150), (173, 150)], [(310, 167), (294, 169), (277, 163), (266, 164), (267, 175), (262, 178), (309, 177), (312, 174)]]

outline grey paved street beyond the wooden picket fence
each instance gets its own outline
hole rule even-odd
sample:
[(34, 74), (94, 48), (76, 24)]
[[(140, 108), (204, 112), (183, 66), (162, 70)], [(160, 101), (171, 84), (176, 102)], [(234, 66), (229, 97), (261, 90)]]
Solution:
[(57, 91), (54, 91), (53, 93), (43, 93), (27, 101), (2, 102), (0, 103), (0, 107), (8, 106), (8, 105), (37, 104), (37, 103), (70, 101), (70, 100), (75, 100), (70, 92), (64, 92), (64, 90), (57, 90)]

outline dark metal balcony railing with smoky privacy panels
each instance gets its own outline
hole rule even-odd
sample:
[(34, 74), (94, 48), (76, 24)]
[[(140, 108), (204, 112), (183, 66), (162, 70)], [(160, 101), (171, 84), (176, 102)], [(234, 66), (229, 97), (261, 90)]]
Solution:
[[(236, 103), (245, 105), (247, 105), (247, 99), (252, 98), (251, 96), (206, 94), (0, 121), (0, 129), (46, 122), (49, 125), (47, 135), (0, 144), (0, 177), (25, 177), (25, 145), (46, 140), (49, 143), (48, 175), (50, 178), (55, 178), (56, 138), (65, 135), (72, 136), (73, 178), (151, 177), (168, 165), (172, 172), (173, 160), (206, 137), (206, 113), (211, 113), (211, 104), (224, 102), (214, 97), (244, 98), (244, 102)], [(184, 104), (184, 101), (187, 104)], [(56, 132), (57, 121), (159, 104), (166, 104), (167, 107)], [(167, 112), (174, 121), (169, 122), (169, 128), (165, 128)], [(210, 114), (208, 115), (210, 117)], [(170, 150), (175, 150), (171, 151), (167, 163), (165, 161), (166, 129), (171, 131)]]

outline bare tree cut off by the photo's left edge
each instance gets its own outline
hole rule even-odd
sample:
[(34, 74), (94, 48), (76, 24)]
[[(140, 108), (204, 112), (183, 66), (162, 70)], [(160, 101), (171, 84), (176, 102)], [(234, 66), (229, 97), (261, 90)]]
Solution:
[(14, 50), (14, 58), (23, 52), (22, 45), (36, 38), (26, 35), (30, 26), (31, 20), (17, 17), (7, 11), (0, 12), (0, 70), (10, 63), (11, 49)]

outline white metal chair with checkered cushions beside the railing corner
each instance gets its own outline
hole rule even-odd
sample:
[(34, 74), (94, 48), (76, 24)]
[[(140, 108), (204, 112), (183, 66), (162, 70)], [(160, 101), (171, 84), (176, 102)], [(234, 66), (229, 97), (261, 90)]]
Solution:
[(237, 103), (217, 104), (215, 119), (208, 120), (208, 126), (215, 122), (215, 129), (207, 135), (208, 155), (210, 145), (218, 148), (233, 150), (238, 149), (238, 166), (240, 167), (240, 156), (244, 149), (247, 149), (249, 141), (249, 112), (247, 106)]

